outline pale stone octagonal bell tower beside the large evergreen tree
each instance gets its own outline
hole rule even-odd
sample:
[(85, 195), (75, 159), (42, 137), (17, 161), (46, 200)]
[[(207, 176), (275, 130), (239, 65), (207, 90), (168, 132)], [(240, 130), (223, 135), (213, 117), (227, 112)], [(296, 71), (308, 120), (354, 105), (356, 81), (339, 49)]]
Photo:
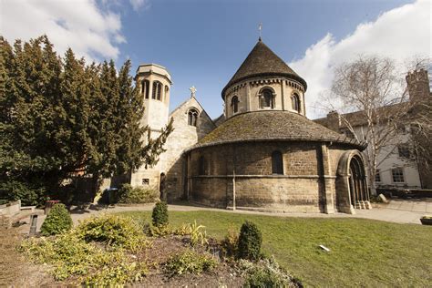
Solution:
[[(143, 64), (137, 69), (135, 77), (139, 92), (143, 98), (144, 116), (142, 126), (149, 125), (152, 138), (160, 134), (169, 121), (170, 108), (170, 73), (165, 67), (157, 64)], [(151, 168), (142, 166), (130, 176), (132, 186), (149, 185), (159, 188), (160, 171), (164, 170), (164, 157), (161, 155), (159, 163)]]

